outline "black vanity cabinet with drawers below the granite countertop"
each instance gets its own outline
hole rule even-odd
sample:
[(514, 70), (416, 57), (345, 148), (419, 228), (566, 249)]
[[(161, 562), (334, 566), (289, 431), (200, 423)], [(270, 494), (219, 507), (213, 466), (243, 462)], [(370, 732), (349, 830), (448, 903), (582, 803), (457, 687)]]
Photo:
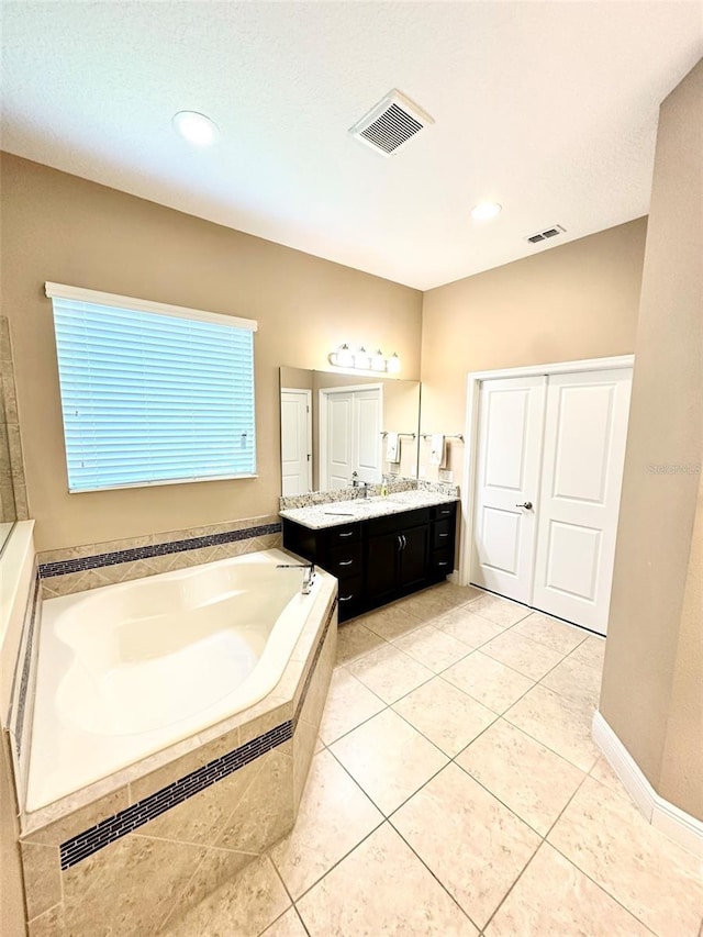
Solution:
[(283, 518), (283, 546), (339, 580), (339, 621), (440, 582), (454, 568), (456, 502), (313, 529)]

